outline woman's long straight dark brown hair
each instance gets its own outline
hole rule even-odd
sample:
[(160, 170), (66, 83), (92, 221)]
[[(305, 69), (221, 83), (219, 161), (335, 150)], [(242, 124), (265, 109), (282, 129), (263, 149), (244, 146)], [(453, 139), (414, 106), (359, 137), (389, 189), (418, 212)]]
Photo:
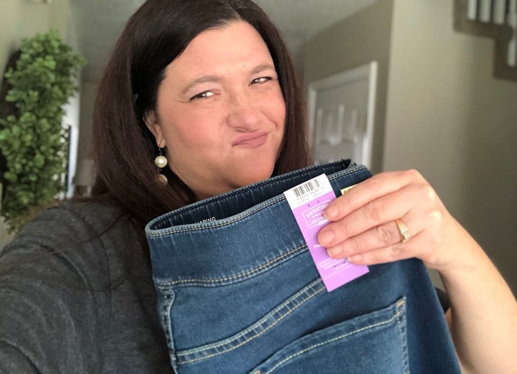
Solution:
[(264, 39), (286, 104), (285, 135), (274, 175), (307, 166), (306, 111), (295, 69), (278, 30), (250, 0), (148, 0), (130, 18), (100, 83), (94, 108), (97, 179), (93, 197), (114, 202), (141, 225), (195, 201), (169, 167), (156, 181), (158, 148), (144, 118), (156, 110), (165, 68), (197, 35), (232, 21)]

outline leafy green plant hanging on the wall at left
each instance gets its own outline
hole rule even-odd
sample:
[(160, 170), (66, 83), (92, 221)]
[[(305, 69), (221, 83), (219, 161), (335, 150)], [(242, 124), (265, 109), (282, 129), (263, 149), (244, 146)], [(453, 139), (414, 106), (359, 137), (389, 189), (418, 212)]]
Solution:
[(68, 135), (63, 106), (77, 91), (75, 77), (86, 60), (63, 43), (56, 30), (25, 39), (16, 68), (5, 79), (5, 100), (13, 111), (0, 118), (0, 151), (5, 158), (5, 193), (0, 214), (18, 231), (35, 209), (64, 191)]

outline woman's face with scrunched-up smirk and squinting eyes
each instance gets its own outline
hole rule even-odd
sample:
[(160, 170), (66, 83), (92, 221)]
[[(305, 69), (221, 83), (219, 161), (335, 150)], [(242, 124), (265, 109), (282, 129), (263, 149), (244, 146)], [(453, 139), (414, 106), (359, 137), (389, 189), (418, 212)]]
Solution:
[(171, 169), (207, 198), (267, 179), (285, 103), (262, 37), (246, 22), (195, 37), (165, 70), (147, 126)]

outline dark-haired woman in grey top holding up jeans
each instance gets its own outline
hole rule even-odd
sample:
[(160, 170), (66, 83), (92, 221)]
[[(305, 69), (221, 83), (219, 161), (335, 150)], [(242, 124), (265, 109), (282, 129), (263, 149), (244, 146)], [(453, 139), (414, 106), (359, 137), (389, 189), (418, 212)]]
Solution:
[[(100, 84), (93, 198), (45, 211), (0, 260), (0, 371), (170, 372), (143, 228), (306, 166), (300, 92), (275, 27), (249, 0), (147, 1)], [(167, 166), (154, 165), (159, 154)], [(418, 257), (440, 272), (465, 372), (515, 370), (517, 303), (417, 172), (360, 183), (326, 216), (319, 240), (334, 257)]]

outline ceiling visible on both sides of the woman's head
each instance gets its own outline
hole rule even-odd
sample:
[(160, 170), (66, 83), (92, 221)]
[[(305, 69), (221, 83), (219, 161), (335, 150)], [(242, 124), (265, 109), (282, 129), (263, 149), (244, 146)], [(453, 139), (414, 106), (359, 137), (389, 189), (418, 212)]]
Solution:
[[(191, 0), (195, 1), (195, 0)], [(295, 59), (321, 30), (378, 0), (255, 0), (277, 25)], [(79, 48), (88, 60), (83, 80), (100, 80), (127, 20), (144, 0), (70, 0)]]

